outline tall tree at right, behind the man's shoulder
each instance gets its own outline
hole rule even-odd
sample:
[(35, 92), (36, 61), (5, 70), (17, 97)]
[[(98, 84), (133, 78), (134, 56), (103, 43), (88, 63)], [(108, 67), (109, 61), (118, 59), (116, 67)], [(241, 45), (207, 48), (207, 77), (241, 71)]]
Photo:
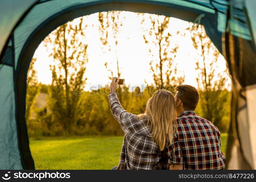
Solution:
[(202, 25), (191, 27), (191, 40), (200, 59), (196, 60), (199, 71), (197, 84), (200, 92), (200, 115), (214, 123), (220, 130), (226, 130), (223, 118), (230, 113), (230, 92), (227, 91), (229, 73), (217, 72), (218, 58), (221, 56)]

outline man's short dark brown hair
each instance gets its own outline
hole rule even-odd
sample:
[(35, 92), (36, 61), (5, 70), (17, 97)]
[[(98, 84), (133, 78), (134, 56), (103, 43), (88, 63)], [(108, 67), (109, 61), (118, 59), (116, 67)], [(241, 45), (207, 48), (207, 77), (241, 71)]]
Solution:
[(190, 85), (179, 85), (175, 88), (177, 98), (183, 103), (185, 110), (195, 110), (199, 101), (199, 92)]

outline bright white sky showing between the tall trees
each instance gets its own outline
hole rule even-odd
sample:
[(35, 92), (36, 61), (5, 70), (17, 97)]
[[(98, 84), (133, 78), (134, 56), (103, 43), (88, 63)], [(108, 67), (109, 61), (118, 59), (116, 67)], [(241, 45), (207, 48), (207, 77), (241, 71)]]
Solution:
[[(148, 16), (146, 14), (145, 16)], [(154, 50), (154, 46), (145, 44), (143, 39), (144, 29), (151, 26), (150, 21), (141, 24), (141, 17), (133, 12), (121, 12), (120, 22), (122, 26), (117, 34), (117, 46), (114, 46), (114, 39), (110, 39), (109, 43), (112, 49), (108, 51), (107, 47), (103, 47), (100, 41), (98, 31), (98, 13), (84, 16), (85, 37), (81, 37), (84, 44), (88, 44), (87, 55), (89, 62), (86, 64), (85, 76), (87, 78), (85, 90), (92, 90), (99, 86), (105, 86), (110, 83), (110, 72), (105, 68), (105, 62), (108, 62), (109, 68), (113, 71), (114, 76), (117, 76), (116, 59), (119, 60), (121, 68), (121, 78), (125, 79), (125, 84), (131, 87), (145, 87), (147, 83), (153, 83), (152, 73), (150, 72), (149, 62), (152, 59), (149, 54), (149, 48)], [(162, 18), (161, 16), (160, 18)], [(78, 23), (79, 19), (75, 19), (74, 23)], [(195, 51), (191, 37), (178, 36), (177, 31), (183, 31), (189, 26), (187, 21), (171, 18), (168, 31), (173, 35), (171, 46), (178, 45), (178, 52), (174, 64), (177, 64), (177, 74), (185, 75), (184, 84), (189, 84), (197, 87), (197, 70), (196, 59), (202, 59)], [(110, 32), (109, 37), (113, 32)], [(102, 50), (103, 48), (103, 50)], [(35, 51), (34, 57), (37, 58), (34, 68), (37, 71), (38, 81), (43, 84), (51, 83), (51, 71), (49, 66), (53, 63), (53, 58), (49, 56), (51, 45), (45, 46), (42, 42)], [(105, 51), (104, 51), (105, 50)], [(157, 50), (157, 48), (156, 48)], [(157, 59), (157, 57), (155, 58)], [(223, 56), (220, 56), (218, 63), (215, 65), (216, 75), (226, 70), (226, 61)], [(228, 81), (230, 83), (230, 79)]]

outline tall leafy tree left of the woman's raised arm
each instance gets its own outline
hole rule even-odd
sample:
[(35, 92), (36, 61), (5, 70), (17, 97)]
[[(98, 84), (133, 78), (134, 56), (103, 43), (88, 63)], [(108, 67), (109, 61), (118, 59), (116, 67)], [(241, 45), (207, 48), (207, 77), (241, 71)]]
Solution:
[(78, 121), (81, 110), (79, 97), (86, 83), (87, 44), (84, 44), (83, 17), (65, 23), (48, 35), (45, 46), (52, 48), (49, 57), (52, 85), (49, 89), (48, 107), (54, 122), (59, 122), (69, 134)]

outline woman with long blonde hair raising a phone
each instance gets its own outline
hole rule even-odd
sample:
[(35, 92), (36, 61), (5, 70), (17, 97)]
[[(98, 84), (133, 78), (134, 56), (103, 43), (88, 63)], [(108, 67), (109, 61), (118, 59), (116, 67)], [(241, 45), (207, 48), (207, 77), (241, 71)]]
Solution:
[(168, 141), (174, 146), (167, 153), (168, 164), (181, 164), (182, 157), (175, 155), (179, 146), (173, 137), (177, 129), (173, 94), (167, 90), (156, 91), (148, 99), (144, 114), (134, 115), (125, 111), (117, 98), (118, 81), (113, 78), (109, 94), (112, 114), (125, 132), (117, 169), (162, 169)]

